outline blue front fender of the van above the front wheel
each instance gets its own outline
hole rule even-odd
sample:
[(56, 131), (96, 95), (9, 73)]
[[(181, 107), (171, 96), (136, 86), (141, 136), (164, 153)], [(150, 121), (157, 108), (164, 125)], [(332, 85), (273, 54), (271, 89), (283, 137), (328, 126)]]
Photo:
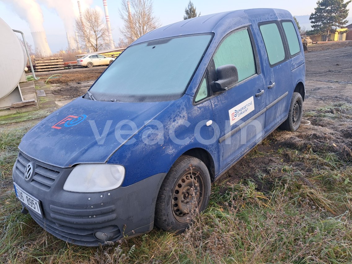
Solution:
[[(194, 106), (191, 96), (185, 95), (181, 99), (143, 127), (108, 160), (108, 163), (125, 166), (123, 187), (158, 173), (167, 173), (178, 157), (193, 148), (205, 149), (213, 158), (215, 172), (218, 171), (218, 131), (215, 126), (199, 125), (202, 120), (213, 120), (210, 102)], [(161, 126), (157, 127), (156, 123)], [(159, 134), (150, 133), (151, 129), (159, 131)], [(199, 140), (199, 136), (206, 140), (213, 138), (212, 143), (204, 144), (204, 140)], [(178, 140), (175, 140), (175, 137)], [(149, 144), (148, 140), (158, 142)]]

